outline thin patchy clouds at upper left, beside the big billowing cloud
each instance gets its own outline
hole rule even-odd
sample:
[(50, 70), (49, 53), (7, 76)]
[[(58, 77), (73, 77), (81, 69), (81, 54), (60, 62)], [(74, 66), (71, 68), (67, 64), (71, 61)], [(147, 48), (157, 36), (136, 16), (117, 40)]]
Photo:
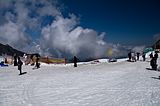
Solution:
[[(33, 41), (31, 41), (30, 34), (33, 29), (41, 31), (41, 17), (43, 15), (54, 16), (58, 14), (58, 10), (53, 3), (51, 5), (48, 1), (41, 0), (38, 2), (38, 0), (1, 0), (0, 17), (3, 22), (0, 22), (0, 43), (9, 44), (16, 49), (21, 50), (25, 50), (25, 48), (29, 49), (29, 46), (34, 46), (32, 43)], [(40, 4), (43, 4), (44, 6), (37, 6)], [(47, 8), (54, 10), (50, 10), (53, 11), (50, 13), (47, 12)], [(33, 12), (33, 10), (36, 11)], [(30, 14), (33, 15), (35, 13), (38, 13), (38, 15), (41, 14), (41, 16), (30, 16)], [(27, 33), (28, 30), (30, 30), (30, 33)]]

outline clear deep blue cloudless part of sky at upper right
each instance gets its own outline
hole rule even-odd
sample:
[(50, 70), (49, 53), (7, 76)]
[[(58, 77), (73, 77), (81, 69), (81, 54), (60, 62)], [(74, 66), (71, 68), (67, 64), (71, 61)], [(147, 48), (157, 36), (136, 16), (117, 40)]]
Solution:
[(61, 0), (80, 24), (106, 32), (112, 43), (150, 45), (160, 33), (159, 0)]

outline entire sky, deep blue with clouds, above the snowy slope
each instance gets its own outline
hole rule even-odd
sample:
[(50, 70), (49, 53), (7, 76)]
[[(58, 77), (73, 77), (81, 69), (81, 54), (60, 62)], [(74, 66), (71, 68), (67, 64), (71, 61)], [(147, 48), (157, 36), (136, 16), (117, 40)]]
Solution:
[[(0, 43), (52, 57), (142, 52), (160, 38), (158, 0), (0, 0)], [(108, 51), (112, 54), (108, 54)]]

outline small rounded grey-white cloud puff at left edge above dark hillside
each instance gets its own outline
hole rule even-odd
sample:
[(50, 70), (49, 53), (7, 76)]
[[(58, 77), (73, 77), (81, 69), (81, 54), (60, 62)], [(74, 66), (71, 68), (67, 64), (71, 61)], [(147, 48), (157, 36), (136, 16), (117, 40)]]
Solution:
[(28, 45), (29, 38), (24, 35), (23, 30), (18, 25), (9, 21), (0, 26), (0, 42), (20, 49)]

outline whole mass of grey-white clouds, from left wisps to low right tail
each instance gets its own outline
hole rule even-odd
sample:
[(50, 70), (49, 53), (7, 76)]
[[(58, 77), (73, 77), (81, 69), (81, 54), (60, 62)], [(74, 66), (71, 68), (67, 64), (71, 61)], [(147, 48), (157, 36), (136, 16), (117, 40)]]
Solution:
[[(105, 42), (104, 32), (80, 26), (74, 14), (64, 17), (56, 0), (1, 0), (0, 9), (4, 20), (3, 24), (0, 22), (0, 43), (28, 53), (53, 57), (77, 55), (85, 59), (108, 56), (106, 52), (112, 48), (113, 57), (127, 54), (126, 47)], [(45, 16), (53, 21), (42, 25)], [(32, 35), (37, 32), (35, 40)]]

